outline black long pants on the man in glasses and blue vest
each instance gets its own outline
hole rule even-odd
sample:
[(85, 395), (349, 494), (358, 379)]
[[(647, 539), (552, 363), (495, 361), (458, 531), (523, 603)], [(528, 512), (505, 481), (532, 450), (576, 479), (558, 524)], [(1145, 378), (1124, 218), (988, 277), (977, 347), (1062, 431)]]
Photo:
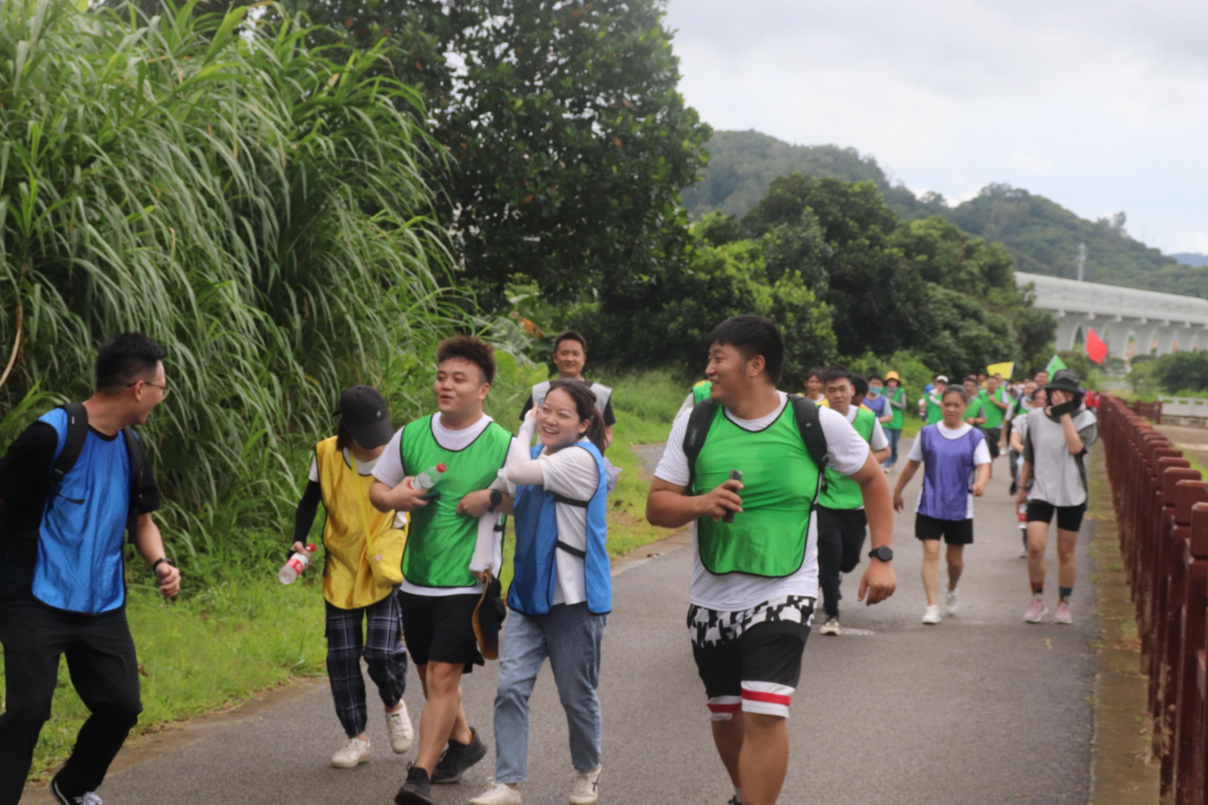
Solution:
[(33, 601), (7, 603), (0, 609), (0, 643), (7, 687), (7, 710), (0, 716), (0, 805), (21, 799), (37, 734), (51, 717), (60, 654), (92, 717), (58, 774), (59, 789), (68, 797), (97, 791), (143, 710), (126, 612), (86, 616)]

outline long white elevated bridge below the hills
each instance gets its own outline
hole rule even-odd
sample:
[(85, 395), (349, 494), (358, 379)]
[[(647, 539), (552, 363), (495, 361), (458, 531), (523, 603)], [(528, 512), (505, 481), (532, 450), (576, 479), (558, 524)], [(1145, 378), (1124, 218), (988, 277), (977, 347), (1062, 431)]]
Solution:
[(1139, 291), (1099, 282), (1079, 282), (1044, 274), (1015, 273), (1020, 287), (1034, 286), (1034, 305), (1057, 317), (1057, 349), (1085, 339), (1086, 328), (1108, 344), (1108, 355), (1128, 358), (1129, 339), (1137, 355), (1158, 355), (1208, 348), (1208, 299)]

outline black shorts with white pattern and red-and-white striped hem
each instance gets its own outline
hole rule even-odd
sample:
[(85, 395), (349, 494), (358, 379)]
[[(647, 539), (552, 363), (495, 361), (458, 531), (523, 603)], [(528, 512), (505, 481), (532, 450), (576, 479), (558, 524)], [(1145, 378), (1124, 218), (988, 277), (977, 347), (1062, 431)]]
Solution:
[(689, 607), (692, 658), (714, 721), (739, 708), (788, 717), (813, 611), (814, 599), (801, 596), (743, 612)]

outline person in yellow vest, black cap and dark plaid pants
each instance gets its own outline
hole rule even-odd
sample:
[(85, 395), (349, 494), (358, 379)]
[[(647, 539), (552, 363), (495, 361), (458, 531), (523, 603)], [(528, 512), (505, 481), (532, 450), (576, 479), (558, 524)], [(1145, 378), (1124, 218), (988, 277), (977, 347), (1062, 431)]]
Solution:
[[(323, 597), (327, 611), (327, 676), (336, 714), (348, 742), (331, 765), (352, 769), (368, 760), (370, 739), (361, 658), (385, 706), (390, 747), (411, 748), (414, 730), (402, 693), (407, 687), (407, 649), (402, 609), (395, 595), (406, 542), (406, 515), (370, 506), (370, 474), (394, 436), (385, 401), (377, 389), (352, 386), (339, 397), (337, 434), (315, 445), (310, 480), (294, 521), (292, 550), (304, 542), (319, 509), (323, 529)], [(361, 628), (368, 628), (362, 637)]]

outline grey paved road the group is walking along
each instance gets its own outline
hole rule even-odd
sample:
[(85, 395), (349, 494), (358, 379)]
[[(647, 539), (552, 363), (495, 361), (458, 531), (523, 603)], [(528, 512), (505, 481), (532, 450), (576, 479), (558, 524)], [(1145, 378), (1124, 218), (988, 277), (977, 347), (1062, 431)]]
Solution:
[[(858, 578), (844, 579), (844, 624), (875, 634), (811, 637), (789, 719), (792, 754), (783, 804), (1086, 803), (1094, 672), (1088, 539), (1081, 544), (1076, 624), (1026, 625), (1024, 561), (1016, 556), (1006, 462), (997, 465), (987, 497), (977, 502), (977, 543), (966, 550), (958, 617), (939, 626), (919, 623), (925, 602), (913, 515), (896, 521), (899, 588), (893, 599), (872, 608), (856, 606)], [(731, 794), (709, 737), (704, 693), (684, 628), (691, 565), (691, 549), (679, 549), (616, 578), (600, 687), (603, 801), (720, 805)], [(1055, 567), (1050, 581), (1056, 588)], [(464, 684), (466, 712), (488, 736), (494, 684), (494, 665)], [(406, 699), (418, 719), (422, 698), (414, 675)], [(370, 731), (371, 763), (331, 769), (327, 759), (342, 734), (326, 688), (315, 687), (116, 772), (100, 793), (121, 805), (385, 804), (403, 778), (408, 756), (389, 753), (377, 712)], [(439, 801), (464, 803), (481, 791), (493, 757), (463, 784), (439, 788)], [(548, 667), (533, 698), (529, 763), (525, 803), (565, 803), (567, 727)]]

